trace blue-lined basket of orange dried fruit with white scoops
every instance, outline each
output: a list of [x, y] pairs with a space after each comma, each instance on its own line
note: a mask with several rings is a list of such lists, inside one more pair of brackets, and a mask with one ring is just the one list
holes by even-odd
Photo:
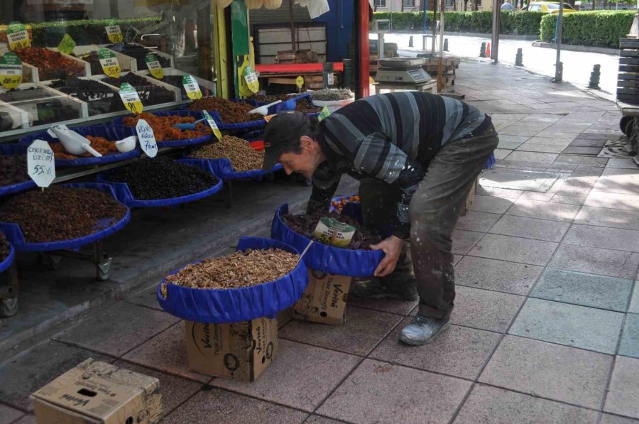
[[89, 152], [82, 153], [80, 156], [72, 155], [65, 150], [65, 147], [62, 146], [58, 138], [51, 136], [48, 131], [41, 131], [24, 136], [20, 138], [20, 143], [28, 146], [35, 140], [46, 141], [53, 150], [55, 166], [59, 167], [101, 165], [104, 163], [126, 161], [126, 159], [140, 156], [139, 148], [134, 148], [132, 151], [125, 153], [121, 153], [116, 148], [116, 141], [136, 135], [136, 131], [131, 128], [124, 126], [92, 125], [79, 126], [72, 128], [72, 130], [84, 138], [87, 138], [87, 140], [91, 142], [91, 147], [102, 154], [102, 157], [97, 158]]

